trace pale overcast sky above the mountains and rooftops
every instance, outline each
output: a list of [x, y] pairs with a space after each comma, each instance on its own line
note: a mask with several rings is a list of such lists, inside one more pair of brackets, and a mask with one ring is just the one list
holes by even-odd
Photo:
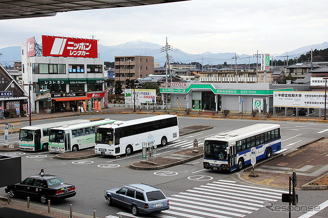
[[326, 0], [191, 0], [0, 20], [0, 48], [42, 35], [92, 38], [115, 46], [142, 40], [191, 54], [282, 54], [328, 38]]

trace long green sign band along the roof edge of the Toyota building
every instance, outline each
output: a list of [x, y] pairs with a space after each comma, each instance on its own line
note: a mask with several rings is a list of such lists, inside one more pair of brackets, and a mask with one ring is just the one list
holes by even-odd
[[209, 89], [214, 94], [231, 94], [231, 95], [273, 95], [273, 91], [293, 91], [293, 89], [277, 89], [277, 90], [233, 90], [233, 89], [215, 89], [211, 84], [191, 84], [187, 89], [178, 88], [160, 88], [160, 93], [189, 93], [191, 90]]

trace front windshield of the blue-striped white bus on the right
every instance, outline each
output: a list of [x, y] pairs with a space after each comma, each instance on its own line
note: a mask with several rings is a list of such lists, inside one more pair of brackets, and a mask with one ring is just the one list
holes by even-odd
[[208, 140], [204, 143], [204, 157], [216, 160], [227, 160], [228, 142]]

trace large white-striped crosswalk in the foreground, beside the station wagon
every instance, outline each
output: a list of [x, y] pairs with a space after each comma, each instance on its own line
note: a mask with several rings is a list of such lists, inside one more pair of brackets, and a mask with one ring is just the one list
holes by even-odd
[[[268, 202], [280, 200], [282, 193], [288, 191], [217, 180], [172, 194], [169, 210], [143, 217], [245, 217], [265, 207]], [[133, 217], [128, 212], [118, 212], [117, 215]]]

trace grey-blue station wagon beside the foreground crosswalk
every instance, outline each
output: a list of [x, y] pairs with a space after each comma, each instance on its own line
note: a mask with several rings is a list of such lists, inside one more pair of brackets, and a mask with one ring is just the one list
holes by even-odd
[[116, 204], [131, 209], [133, 215], [152, 213], [170, 208], [169, 199], [158, 188], [146, 184], [125, 185], [107, 190], [105, 198], [109, 206]]

